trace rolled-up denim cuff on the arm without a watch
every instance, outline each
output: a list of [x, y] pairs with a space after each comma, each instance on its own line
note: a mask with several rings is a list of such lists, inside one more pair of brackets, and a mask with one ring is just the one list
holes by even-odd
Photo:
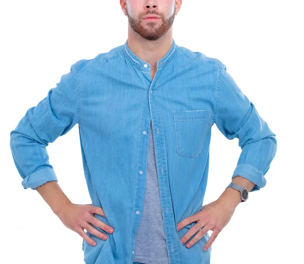
[[58, 181], [55, 171], [52, 168], [45, 168], [29, 174], [25, 179], [23, 179], [23, 188], [31, 188], [35, 190], [38, 187], [48, 181]]

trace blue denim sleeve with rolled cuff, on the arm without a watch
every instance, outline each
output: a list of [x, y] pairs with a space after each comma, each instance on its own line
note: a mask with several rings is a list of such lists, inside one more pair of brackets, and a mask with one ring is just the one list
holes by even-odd
[[48, 181], [58, 181], [46, 147], [79, 121], [76, 65], [71, 65], [56, 87], [26, 111], [10, 133], [12, 156], [25, 189], [36, 190], [37, 186]]

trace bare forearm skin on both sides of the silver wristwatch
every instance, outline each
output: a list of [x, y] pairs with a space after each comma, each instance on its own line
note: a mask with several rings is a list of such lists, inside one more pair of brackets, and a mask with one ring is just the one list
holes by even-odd
[[[250, 180], [242, 177], [242, 176], [236, 176], [232, 179], [232, 182], [237, 183], [241, 186], [244, 186], [248, 192], [252, 190], [254, 187], [254, 183]], [[232, 206], [237, 206], [240, 202], [242, 202], [240, 191], [235, 190], [234, 188], [225, 188], [224, 192], [219, 197], [219, 200], [225, 201], [229, 203]]]

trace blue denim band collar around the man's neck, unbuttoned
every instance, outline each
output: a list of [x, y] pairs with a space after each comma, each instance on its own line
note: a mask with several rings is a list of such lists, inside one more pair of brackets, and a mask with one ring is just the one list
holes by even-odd
[[[174, 57], [178, 49], [178, 46], [176, 45], [174, 39], [172, 39], [172, 46], [168, 53], [161, 58], [157, 62], [157, 68], [162, 68], [164, 67], [167, 63], [170, 62], [170, 60]], [[151, 65], [147, 63], [146, 61], [142, 60], [138, 56], [136, 56], [129, 48], [128, 46], [128, 40], [126, 40], [125, 44], [123, 45], [123, 53], [125, 55], [125, 58], [136, 68], [140, 70], [145, 70], [145, 71], [150, 71], [151, 70]]]

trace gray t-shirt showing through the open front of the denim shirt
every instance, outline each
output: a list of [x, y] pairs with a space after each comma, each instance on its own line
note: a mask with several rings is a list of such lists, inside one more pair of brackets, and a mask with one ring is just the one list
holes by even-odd
[[141, 217], [139, 230], [135, 238], [134, 262], [143, 264], [169, 264], [151, 122], [146, 191]]

